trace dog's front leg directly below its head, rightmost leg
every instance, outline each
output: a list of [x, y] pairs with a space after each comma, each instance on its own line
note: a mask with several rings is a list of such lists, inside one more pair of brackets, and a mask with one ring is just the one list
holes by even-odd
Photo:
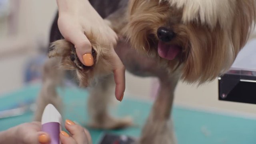
[[140, 144], [176, 144], [173, 126], [169, 118], [177, 82], [178, 78], [160, 79], [158, 97], [142, 130]]

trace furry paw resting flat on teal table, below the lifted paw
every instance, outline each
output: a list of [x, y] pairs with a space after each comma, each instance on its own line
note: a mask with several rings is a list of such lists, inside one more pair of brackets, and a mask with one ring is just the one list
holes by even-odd
[[96, 129], [112, 130], [112, 129], [126, 128], [132, 125], [133, 125], [133, 120], [130, 117], [117, 119], [117, 118], [112, 118], [110, 116], [106, 116], [104, 119], [102, 118], [102, 120], [100, 121], [91, 122], [88, 126]]

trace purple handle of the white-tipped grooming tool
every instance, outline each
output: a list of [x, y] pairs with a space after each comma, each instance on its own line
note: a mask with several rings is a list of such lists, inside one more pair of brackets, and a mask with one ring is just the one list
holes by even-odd
[[60, 123], [48, 122], [46, 124], [43, 124], [42, 131], [50, 135], [50, 144], [60, 144]]

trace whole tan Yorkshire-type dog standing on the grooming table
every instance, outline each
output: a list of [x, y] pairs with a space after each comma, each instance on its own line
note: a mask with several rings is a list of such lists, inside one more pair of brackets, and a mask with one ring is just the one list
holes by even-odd
[[[157, 77], [160, 89], [139, 144], [176, 143], [169, 122], [174, 91], [179, 80], [203, 84], [224, 74], [244, 47], [255, 26], [255, 0], [91, 0], [92, 6], [118, 34], [116, 53], [126, 69], [137, 76]], [[82, 65], [74, 45], [64, 40], [52, 25], [43, 84], [35, 119], [40, 120], [48, 103], [61, 110], [55, 90], [65, 70], [70, 70], [82, 87], [89, 86], [88, 102], [94, 128], [123, 128], [128, 118], [115, 119], [107, 111], [113, 94], [109, 48], [86, 36], [92, 43], [94, 66]], [[100, 103], [100, 104], [99, 104]]]

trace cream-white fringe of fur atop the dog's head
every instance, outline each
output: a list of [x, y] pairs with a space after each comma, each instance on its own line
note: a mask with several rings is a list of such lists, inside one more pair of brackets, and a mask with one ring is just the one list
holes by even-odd
[[[217, 23], [228, 28], [236, 11], [236, 0], [160, 0], [168, 1], [172, 7], [183, 10], [182, 22], [196, 21], [214, 28]], [[241, 0], [238, 0], [241, 1]]]

